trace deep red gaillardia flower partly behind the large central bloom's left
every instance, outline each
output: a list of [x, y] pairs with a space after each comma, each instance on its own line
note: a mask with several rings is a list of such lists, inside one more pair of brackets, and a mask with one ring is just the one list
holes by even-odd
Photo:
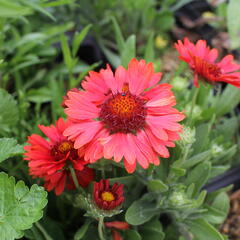
[[68, 167], [71, 165], [76, 172], [79, 184], [86, 187], [94, 177], [93, 169], [86, 167], [86, 161], [78, 156], [73, 148], [73, 142], [63, 136], [63, 131], [69, 126], [60, 118], [56, 126], [45, 127], [39, 125], [40, 130], [49, 138], [32, 134], [28, 137], [30, 145], [25, 146], [25, 160], [28, 161], [30, 175], [45, 180], [44, 187], [51, 191], [55, 188], [57, 195], [61, 194], [65, 187], [74, 189], [73, 179]]

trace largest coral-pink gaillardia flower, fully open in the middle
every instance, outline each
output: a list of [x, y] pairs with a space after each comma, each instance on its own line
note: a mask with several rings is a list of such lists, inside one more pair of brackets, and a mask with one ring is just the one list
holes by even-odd
[[[84, 159], [95, 162], [104, 157], [120, 162], [129, 173], [136, 163], [147, 168], [159, 164], [158, 156], [169, 157], [182, 126], [183, 113], [174, 109], [171, 85], [157, 84], [161, 73], [153, 64], [132, 59], [128, 69], [119, 66], [89, 72], [83, 91], [68, 92], [66, 114], [71, 125], [64, 131]], [[79, 153], [79, 154], [80, 154]]]

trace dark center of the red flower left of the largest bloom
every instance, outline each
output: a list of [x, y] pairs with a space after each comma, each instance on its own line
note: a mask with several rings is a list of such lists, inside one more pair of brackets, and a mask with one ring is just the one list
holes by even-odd
[[56, 161], [65, 158], [68, 153], [68, 158], [78, 158], [77, 150], [73, 148], [73, 143], [67, 140], [55, 144], [51, 149], [51, 154], [54, 156]]

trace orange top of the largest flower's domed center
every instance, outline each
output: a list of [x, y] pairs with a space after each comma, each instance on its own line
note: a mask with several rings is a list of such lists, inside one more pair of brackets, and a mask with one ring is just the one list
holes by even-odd
[[130, 95], [123, 93], [113, 98], [109, 105], [113, 113], [117, 115], [131, 114], [134, 109], [137, 107], [137, 104]]

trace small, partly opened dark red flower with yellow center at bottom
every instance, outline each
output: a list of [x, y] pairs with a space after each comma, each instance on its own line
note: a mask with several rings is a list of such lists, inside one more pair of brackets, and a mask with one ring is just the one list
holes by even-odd
[[100, 209], [113, 210], [120, 206], [123, 201], [123, 184], [115, 183], [109, 186], [109, 180], [102, 179], [99, 183], [94, 184], [93, 198]]

